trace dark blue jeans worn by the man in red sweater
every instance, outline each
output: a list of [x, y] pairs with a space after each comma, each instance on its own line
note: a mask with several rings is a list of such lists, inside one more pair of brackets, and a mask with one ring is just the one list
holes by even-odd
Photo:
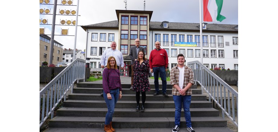
[[158, 84], [158, 73], [160, 74], [161, 81], [162, 81], [162, 93], [166, 93], [166, 71], [165, 67], [153, 67], [153, 72], [154, 72], [154, 87], [155, 87], [155, 92], [159, 93], [159, 84]]

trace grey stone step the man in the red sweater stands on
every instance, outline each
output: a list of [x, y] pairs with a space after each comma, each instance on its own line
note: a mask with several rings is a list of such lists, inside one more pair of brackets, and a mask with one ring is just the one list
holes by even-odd
[[[147, 92], [148, 93], [148, 92]], [[122, 98], [120, 100], [135, 100], [136, 101], [136, 95], [135, 94], [123, 94]], [[68, 95], [68, 99], [71, 100], [104, 100], [103, 96], [100, 96], [100, 94], [93, 94], [93, 93], [71, 93]], [[140, 95], [140, 99], [142, 99]], [[195, 100], [206, 100], [207, 97], [202, 94], [193, 94], [191, 97], [192, 101]], [[146, 100], [155, 100], [155, 101], [173, 101], [173, 95], [168, 94], [167, 97], [163, 96], [162, 94], [154, 96], [152, 94], [146, 94]]]

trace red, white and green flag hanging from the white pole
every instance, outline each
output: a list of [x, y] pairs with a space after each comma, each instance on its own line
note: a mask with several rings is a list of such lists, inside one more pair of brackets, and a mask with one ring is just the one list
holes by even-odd
[[222, 21], [226, 17], [220, 14], [223, 0], [203, 0], [204, 21]]

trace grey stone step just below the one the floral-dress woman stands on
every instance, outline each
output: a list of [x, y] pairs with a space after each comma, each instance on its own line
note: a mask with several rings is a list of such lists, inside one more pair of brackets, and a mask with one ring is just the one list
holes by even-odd
[[[104, 128], [104, 117], [56, 116], [48, 122], [49, 127]], [[227, 121], [221, 117], [192, 117], [194, 127], [226, 127]], [[186, 127], [181, 118], [181, 127]], [[171, 128], [175, 117], [113, 117], [114, 128]]]

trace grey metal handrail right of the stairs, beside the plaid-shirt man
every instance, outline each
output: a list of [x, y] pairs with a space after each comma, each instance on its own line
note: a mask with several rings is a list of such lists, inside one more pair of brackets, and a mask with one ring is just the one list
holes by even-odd
[[[208, 101], [211, 101], [211, 99], [214, 100], [214, 102], [222, 109], [222, 118], [225, 118], [225, 114], [226, 114], [238, 127], [238, 122], [235, 121], [235, 106], [237, 107], [237, 115], [238, 115], [238, 92], [234, 90], [231, 86], [229, 86], [225, 81], [223, 81], [216, 74], [214, 74], [211, 70], [209, 70], [200, 61], [191, 61], [191, 62], [187, 62], [187, 64], [193, 70], [195, 83], [198, 82], [201, 85], [202, 93], [203, 90], [205, 90], [208, 93]], [[219, 92], [219, 86], [220, 86], [220, 92]], [[223, 86], [224, 94], [222, 92], [222, 86]], [[228, 96], [227, 98], [226, 98], [226, 90]], [[236, 104], [234, 98], [236, 98]], [[230, 99], [232, 101], [232, 105], [230, 104]], [[226, 104], [226, 101], [228, 102], [228, 105]], [[232, 117], [231, 117], [231, 106], [232, 106]]]

